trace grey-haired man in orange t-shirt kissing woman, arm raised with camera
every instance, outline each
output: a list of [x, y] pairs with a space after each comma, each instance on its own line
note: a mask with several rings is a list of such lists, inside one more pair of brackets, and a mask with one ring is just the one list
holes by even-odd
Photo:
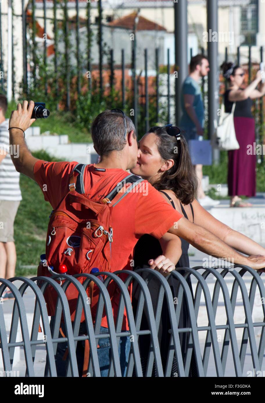
[[[69, 174], [77, 162], [46, 162], [32, 156], [25, 145], [23, 131], [34, 122], [34, 119], [31, 119], [33, 108], [33, 101], [30, 101], [29, 106], [28, 102], [24, 101], [23, 106], [18, 104], [17, 110], [11, 114], [9, 120], [10, 144], [19, 145], [19, 158], [12, 156], [12, 160], [16, 170], [36, 181], [42, 190], [42, 185], [46, 184], [45, 189], [47, 190], [43, 191], [44, 198], [50, 202], [53, 209], [56, 209], [59, 201], [69, 191]], [[102, 199], [107, 195], [115, 185], [128, 175], [126, 170], [136, 166], [139, 150], [132, 120], [121, 111], [106, 110], [99, 114], [93, 122], [91, 133], [94, 148], [100, 155], [101, 161], [99, 164], [86, 166], [84, 187], [86, 195], [95, 200]], [[256, 269], [265, 266], [264, 257], [251, 256], [252, 259], [250, 260], [250, 258], [243, 256], [214, 234], [185, 219], [147, 181], [142, 183], [146, 184], [147, 191], [129, 193], [117, 206], [114, 206], [112, 214], [114, 227], [112, 271], [131, 269], [130, 261], [133, 249], [139, 237], [145, 233], [160, 240], [164, 255], [158, 256], [156, 260], [150, 256], [149, 264], [151, 268], [160, 270], [162, 273], [169, 273], [175, 269], [175, 264], [181, 255], [179, 237], [209, 255], [233, 258], [235, 263], [251, 264]], [[114, 299], [112, 306], [114, 319], [117, 315], [117, 307], [118, 301]], [[105, 319], [103, 319], [102, 325], [101, 332], [107, 333]], [[126, 330], [127, 326], [126, 316], [124, 316], [122, 329]], [[121, 356], [124, 357], [123, 361], [121, 360], [121, 369], [124, 375], [130, 342], [128, 337], [121, 339], [123, 341], [127, 339], [125, 343], [120, 343], [119, 346]], [[62, 344], [66, 343], [59, 343], [60, 347]], [[107, 370], [104, 368], [108, 367], [109, 349], [109, 339], [100, 339], [98, 355], [101, 376], [107, 376]], [[58, 369], [62, 372], [65, 371], [65, 368], [60, 367], [62, 355], [63, 352], [61, 351], [57, 357], [57, 374]]]

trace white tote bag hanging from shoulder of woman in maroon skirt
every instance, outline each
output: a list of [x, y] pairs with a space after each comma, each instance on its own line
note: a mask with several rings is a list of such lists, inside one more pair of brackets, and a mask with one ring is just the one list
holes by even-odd
[[233, 103], [231, 113], [225, 112], [225, 106], [221, 106], [221, 116], [216, 131], [216, 144], [219, 150], [238, 150], [239, 144], [236, 139], [234, 127], [234, 110], [236, 103]]

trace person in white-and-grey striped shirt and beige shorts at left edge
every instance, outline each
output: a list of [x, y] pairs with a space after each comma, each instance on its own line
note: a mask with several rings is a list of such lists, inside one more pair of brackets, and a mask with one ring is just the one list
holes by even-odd
[[[0, 94], [0, 278], [15, 277], [17, 254], [14, 221], [22, 200], [19, 187], [20, 174], [11, 159], [11, 154], [15, 157], [19, 150], [9, 146], [6, 109], [6, 97]], [[13, 294], [6, 288], [2, 297], [13, 298]]]

